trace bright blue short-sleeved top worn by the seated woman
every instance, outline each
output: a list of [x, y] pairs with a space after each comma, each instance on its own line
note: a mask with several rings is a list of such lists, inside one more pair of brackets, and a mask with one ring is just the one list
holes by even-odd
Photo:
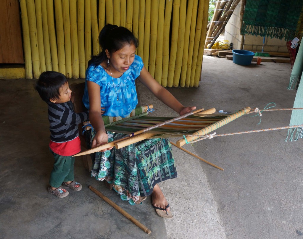
[[101, 107], [105, 107], [103, 115], [128, 116], [138, 104], [135, 79], [140, 75], [143, 66], [142, 58], [135, 55], [134, 62], [128, 70], [120, 78], [113, 79], [101, 65], [89, 66], [85, 73], [85, 89], [82, 99], [85, 107], [89, 109], [87, 81], [92, 81], [100, 86]]

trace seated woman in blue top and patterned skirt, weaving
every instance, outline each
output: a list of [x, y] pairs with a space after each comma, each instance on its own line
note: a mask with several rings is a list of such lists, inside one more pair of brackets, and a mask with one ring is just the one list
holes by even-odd
[[[92, 129], [86, 131], [92, 148], [125, 136], [105, 131], [102, 114], [126, 117], [138, 104], [138, 78], [165, 105], [184, 115], [184, 107], [149, 74], [135, 55], [138, 40], [124, 27], [105, 25], [99, 35], [102, 51], [88, 61], [83, 103], [89, 109]], [[158, 183], [177, 177], [171, 144], [167, 139], [146, 139], [121, 149], [108, 148], [93, 156], [92, 176], [113, 184], [122, 200], [139, 204], [151, 195], [161, 217], [171, 218], [169, 204]]]

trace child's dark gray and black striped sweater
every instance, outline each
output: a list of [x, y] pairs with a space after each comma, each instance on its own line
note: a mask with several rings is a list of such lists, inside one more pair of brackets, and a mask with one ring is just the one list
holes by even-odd
[[79, 135], [78, 124], [88, 119], [88, 111], [75, 113], [72, 101], [62, 104], [48, 104], [49, 130], [51, 140], [64, 143]]

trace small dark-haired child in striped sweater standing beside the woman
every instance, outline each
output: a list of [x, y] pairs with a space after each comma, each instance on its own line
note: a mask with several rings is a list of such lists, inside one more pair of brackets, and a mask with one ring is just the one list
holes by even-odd
[[72, 155], [81, 151], [78, 124], [88, 119], [88, 111], [75, 113], [71, 101], [72, 91], [66, 77], [59, 72], [43, 72], [35, 89], [48, 104], [51, 131], [49, 148], [55, 158], [48, 192], [64, 198], [68, 195], [64, 188], [73, 191], [80, 191], [82, 188], [81, 184], [74, 181], [75, 158]]

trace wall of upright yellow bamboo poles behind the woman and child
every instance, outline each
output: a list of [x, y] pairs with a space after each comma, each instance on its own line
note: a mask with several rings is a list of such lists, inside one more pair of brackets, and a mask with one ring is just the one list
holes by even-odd
[[107, 23], [131, 30], [137, 54], [164, 87], [198, 87], [209, 0], [20, 0], [25, 77], [85, 78]]

